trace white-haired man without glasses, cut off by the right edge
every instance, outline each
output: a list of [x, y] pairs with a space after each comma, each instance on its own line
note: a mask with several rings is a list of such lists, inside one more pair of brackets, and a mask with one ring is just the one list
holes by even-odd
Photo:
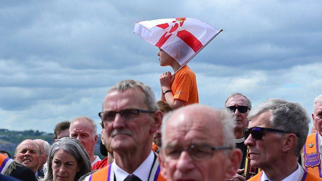
[[301, 158], [302, 167], [316, 176], [322, 177], [321, 174], [321, 140], [322, 140], [322, 94], [317, 96], [313, 104], [313, 128], [316, 133], [309, 135], [303, 147]]

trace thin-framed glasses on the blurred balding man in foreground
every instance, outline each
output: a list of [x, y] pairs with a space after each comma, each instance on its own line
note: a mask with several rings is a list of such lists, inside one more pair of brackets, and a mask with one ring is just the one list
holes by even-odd
[[187, 151], [196, 162], [206, 161], [213, 157], [215, 150], [232, 149], [231, 146], [211, 147], [190, 145], [188, 148], [166, 147], [160, 150], [161, 158], [166, 162], [176, 161], [183, 151]]

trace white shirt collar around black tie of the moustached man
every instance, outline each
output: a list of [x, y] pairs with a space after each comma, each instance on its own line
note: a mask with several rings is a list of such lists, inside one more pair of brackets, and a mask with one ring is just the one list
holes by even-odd
[[[147, 179], [149, 178], [149, 173], [150, 173], [150, 171], [147, 171], [147, 170], [151, 170], [151, 168], [153, 166], [153, 162], [154, 162], [154, 153], [153, 153], [153, 151], [151, 151], [149, 156], [147, 156], [147, 158], [143, 161], [143, 163], [139, 167], [137, 167], [137, 169], [134, 170], [134, 172], [132, 174], [139, 177], [142, 181], [147, 181]], [[122, 168], [118, 167], [118, 165], [115, 163], [115, 159], [112, 163], [112, 167], [114, 168], [116, 180], [122, 181], [127, 176], [130, 175], [128, 172], [126, 172]]]

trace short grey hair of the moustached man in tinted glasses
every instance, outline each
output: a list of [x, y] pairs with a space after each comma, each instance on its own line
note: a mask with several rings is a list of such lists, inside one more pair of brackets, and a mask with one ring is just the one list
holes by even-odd
[[[138, 87], [142, 90], [142, 92], [145, 94], [146, 98], [144, 100], [144, 103], [147, 105], [148, 110], [157, 111], [158, 107], [156, 105], [156, 99], [154, 97], [154, 93], [150, 86], [144, 84], [140, 81], [135, 80], [123, 80], [119, 81], [118, 83], [114, 84], [111, 89], [108, 91], [108, 93], [112, 91], [120, 91], [123, 92], [128, 89], [134, 89], [135, 87]], [[136, 95], [133, 95], [136, 96]]]

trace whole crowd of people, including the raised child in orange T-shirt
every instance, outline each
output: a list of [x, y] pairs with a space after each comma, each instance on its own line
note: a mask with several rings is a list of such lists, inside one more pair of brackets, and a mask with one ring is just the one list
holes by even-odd
[[[162, 66], [179, 70], [158, 53]], [[58, 123], [52, 145], [27, 139], [13, 159], [0, 154], [0, 180], [38, 181], [295, 181], [322, 180], [322, 94], [314, 100], [313, 125], [304, 108], [269, 99], [252, 108], [232, 93], [223, 109], [198, 104], [194, 73], [184, 67], [160, 75], [161, 97], [135, 80], [107, 92], [93, 119]], [[173, 85], [175, 83], [175, 85]], [[100, 160], [94, 146], [100, 142]]]

